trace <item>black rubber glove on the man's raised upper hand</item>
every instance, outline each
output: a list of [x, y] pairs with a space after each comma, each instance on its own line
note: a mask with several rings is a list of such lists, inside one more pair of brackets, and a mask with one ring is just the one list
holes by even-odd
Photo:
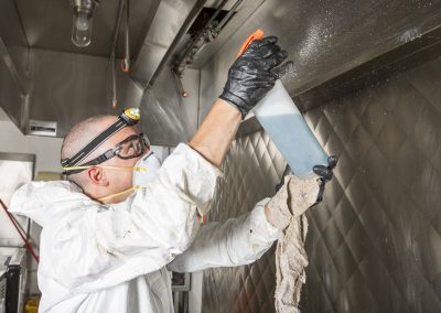
[[235, 106], [245, 118], [292, 64], [281, 65], [287, 56], [276, 36], [255, 40], [229, 68], [219, 98]]

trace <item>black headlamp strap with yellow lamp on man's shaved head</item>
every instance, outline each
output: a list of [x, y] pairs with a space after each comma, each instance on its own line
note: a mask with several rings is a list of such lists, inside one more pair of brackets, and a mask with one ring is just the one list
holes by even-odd
[[132, 108], [121, 112], [118, 120], [109, 126], [106, 130], [95, 137], [89, 143], [87, 143], [82, 150], [79, 150], [74, 156], [62, 160], [62, 166], [74, 166], [87, 158], [95, 149], [103, 144], [110, 136], [121, 130], [126, 126], [133, 126], [139, 121], [139, 109]]

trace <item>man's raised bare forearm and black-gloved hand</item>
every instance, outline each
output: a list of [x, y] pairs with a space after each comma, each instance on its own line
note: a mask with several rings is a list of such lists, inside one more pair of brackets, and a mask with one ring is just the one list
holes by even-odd
[[289, 64], [277, 37], [254, 41], [228, 71], [224, 91], [197, 129], [190, 147], [220, 166], [240, 121], [272, 88]]

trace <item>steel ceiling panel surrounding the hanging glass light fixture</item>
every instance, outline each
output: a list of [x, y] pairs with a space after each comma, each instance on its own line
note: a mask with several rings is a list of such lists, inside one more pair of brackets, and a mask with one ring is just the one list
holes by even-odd
[[[130, 1], [130, 51], [136, 51], [142, 44], [159, 2]], [[96, 56], [110, 55], [119, 0], [100, 1], [94, 13], [92, 43], [82, 48], [71, 41], [72, 8], [68, 0], [15, 0], [15, 3], [29, 46]], [[117, 45], [117, 56], [123, 57], [122, 41]]]

